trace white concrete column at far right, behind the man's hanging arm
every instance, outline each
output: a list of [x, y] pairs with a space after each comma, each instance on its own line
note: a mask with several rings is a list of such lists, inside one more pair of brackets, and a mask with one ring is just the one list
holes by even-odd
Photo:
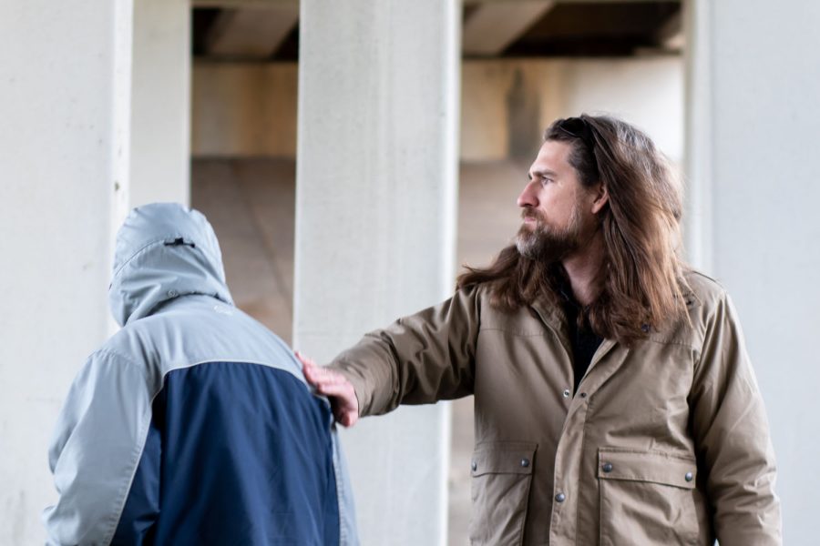
[[[784, 543], [816, 541], [820, 4], [690, 0], [696, 262], [733, 295], [777, 454]], [[697, 245], [696, 245], [697, 248]]]

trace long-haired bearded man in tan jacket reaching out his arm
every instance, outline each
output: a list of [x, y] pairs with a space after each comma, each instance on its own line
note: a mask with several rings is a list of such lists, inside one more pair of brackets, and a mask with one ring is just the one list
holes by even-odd
[[475, 395], [474, 544], [780, 544], [774, 453], [730, 298], [680, 256], [651, 139], [559, 119], [515, 244], [446, 302], [304, 373], [351, 426]]

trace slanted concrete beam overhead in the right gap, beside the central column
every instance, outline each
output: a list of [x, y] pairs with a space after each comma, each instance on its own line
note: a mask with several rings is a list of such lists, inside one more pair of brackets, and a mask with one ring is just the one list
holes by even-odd
[[555, 4], [554, 0], [526, 0], [480, 5], [464, 24], [462, 52], [472, 56], [500, 54]]

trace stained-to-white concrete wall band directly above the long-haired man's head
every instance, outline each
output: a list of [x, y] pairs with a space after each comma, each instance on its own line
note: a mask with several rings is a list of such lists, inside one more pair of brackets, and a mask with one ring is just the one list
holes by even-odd
[[683, 62], [633, 59], [469, 61], [463, 69], [461, 157], [534, 157], [557, 117], [609, 113], [683, 154]]

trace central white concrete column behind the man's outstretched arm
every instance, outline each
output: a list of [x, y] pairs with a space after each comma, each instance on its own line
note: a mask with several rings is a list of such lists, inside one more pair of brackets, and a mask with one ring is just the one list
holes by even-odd
[[[457, 0], [302, 0], [294, 345], [319, 361], [452, 293]], [[344, 445], [362, 543], [444, 544], [448, 408]]]

